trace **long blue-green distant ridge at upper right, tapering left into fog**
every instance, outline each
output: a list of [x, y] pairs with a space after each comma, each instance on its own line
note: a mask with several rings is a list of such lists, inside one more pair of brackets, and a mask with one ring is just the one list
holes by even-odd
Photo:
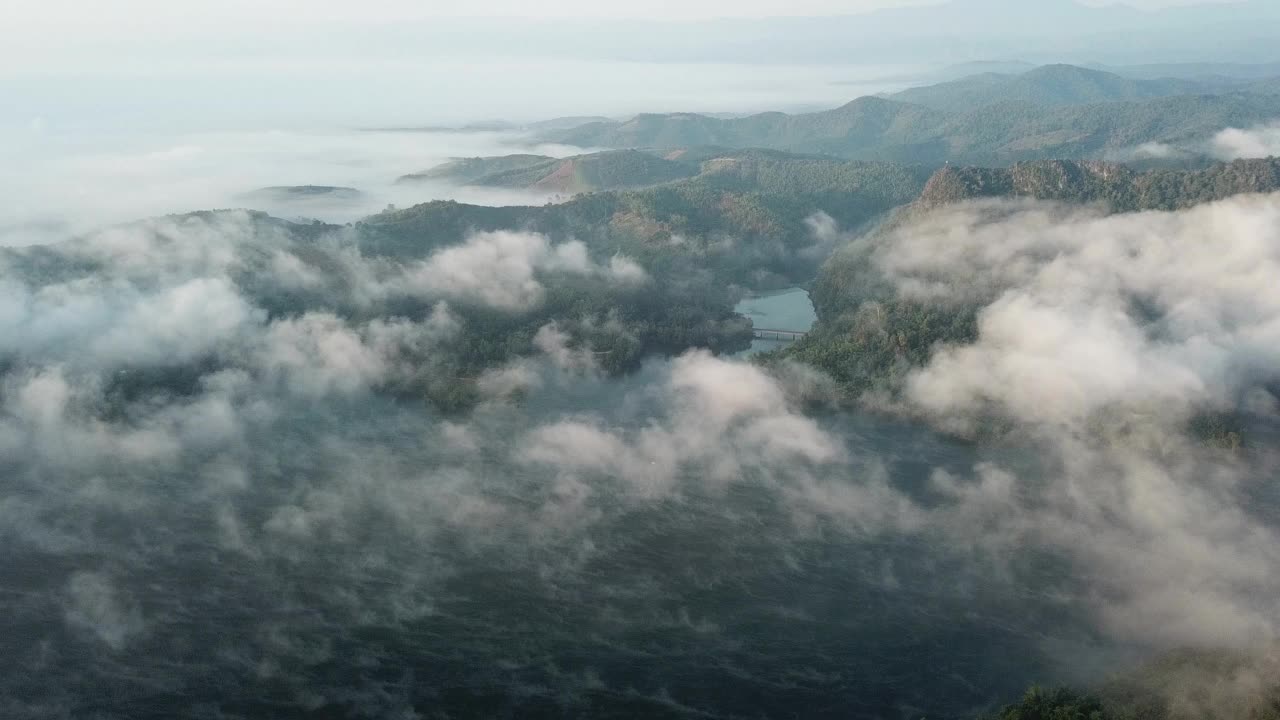
[[[937, 101], [963, 110], [860, 97], [833, 110], [796, 115], [763, 113], [721, 119], [689, 113], [645, 114], [556, 131], [544, 138], [582, 147], [721, 145], [914, 164], [1006, 165], [1048, 158], [1101, 159], [1148, 142], [1199, 143], [1222, 128], [1251, 127], [1280, 117], [1280, 94], [1272, 82], [1216, 95], [1147, 97], [1198, 86], [1184, 85], [1187, 81], [1128, 81], [1080, 68], [1046, 68], [1028, 74], [1029, 81], [972, 81], [988, 85], [982, 97]], [[929, 88], [915, 92], [925, 91]], [[937, 86], [932, 91], [942, 92]], [[1074, 104], [1083, 100], [1107, 101]]]

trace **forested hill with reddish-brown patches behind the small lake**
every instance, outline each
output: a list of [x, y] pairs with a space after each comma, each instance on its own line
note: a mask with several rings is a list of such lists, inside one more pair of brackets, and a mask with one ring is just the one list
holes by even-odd
[[678, 161], [699, 174], [557, 205], [426, 202], [374, 215], [356, 229], [366, 252], [398, 258], [460, 242], [471, 231], [527, 229], [581, 240], [604, 256], [626, 252], [654, 272], [699, 269], [722, 284], [767, 290], [817, 272], [826, 251], [805, 223], [815, 213], [856, 228], [915, 200], [929, 177], [920, 167], [768, 150], [695, 147]]

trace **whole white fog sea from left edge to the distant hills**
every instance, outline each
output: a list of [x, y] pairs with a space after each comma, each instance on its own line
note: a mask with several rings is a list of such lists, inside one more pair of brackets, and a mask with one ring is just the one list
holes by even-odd
[[[518, 132], [360, 128], [812, 110], [901, 87], [909, 70], [571, 60], [352, 61], [259, 74], [261, 69], [0, 73], [0, 94], [8, 99], [0, 109], [0, 161], [9, 169], [0, 173], [0, 245], [51, 242], [105, 224], [211, 208], [346, 223], [388, 204], [543, 204], [556, 197], [445, 182], [396, 184], [396, 178], [449, 158], [563, 156], [590, 149], [545, 146]], [[360, 196], [244, 197], [276, 186], [349, 187]]]

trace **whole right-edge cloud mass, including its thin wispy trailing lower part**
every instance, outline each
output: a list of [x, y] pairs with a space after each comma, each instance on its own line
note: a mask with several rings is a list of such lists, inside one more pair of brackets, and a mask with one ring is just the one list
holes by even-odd
[[936, 348], [909, 405], [965, 433], [1011, 418], [1041, 454], [937, 474], [951, 500], [932, 527], [996, 557], [1065, 553], [1089, 577], [1076, 601], [1125, 642], [1280, 634], [1280, 537], [1245, 500], [1266, 454], [1224, 460], [1185, 430], [1258, 407], [1280, 366], [1280, 195], [1111, 217], [974, 202], [883, 242], [900, 292], [980, 307], [975, 342]]

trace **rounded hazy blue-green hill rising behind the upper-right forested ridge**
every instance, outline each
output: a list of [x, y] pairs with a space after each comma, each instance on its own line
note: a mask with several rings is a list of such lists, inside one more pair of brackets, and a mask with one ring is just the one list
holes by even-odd
[[964, 113], [1000, 102], [1047, 108], [1171, 95], [1226, 92], [1235, 83], [1176, 78], [1134, 79], [1075, 65], [1044, 65], [1020, 74], [986, 73], [891, 95], [937, 110]]

